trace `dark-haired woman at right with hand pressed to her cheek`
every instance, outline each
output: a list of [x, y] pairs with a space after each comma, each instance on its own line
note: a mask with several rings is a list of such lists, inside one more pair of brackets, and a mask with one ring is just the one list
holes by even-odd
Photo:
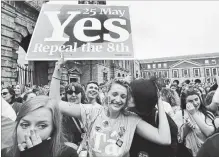
[[207, 137], [215, 131], [212, 123], [214, 115], [207, 111], [199, 93], [193, 88], [182, 92], [181, 109], [174, 117], [180, 142], [185, 141], [185, 146], [195, 157]]

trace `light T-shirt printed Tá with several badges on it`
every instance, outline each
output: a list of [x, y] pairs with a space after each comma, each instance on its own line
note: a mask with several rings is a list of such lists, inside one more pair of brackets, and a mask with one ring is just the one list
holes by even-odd
[[[92, 107], [81, 104], [82, 123], [92, 129], [89, 135], [94, 157], [128, 157], [135, 129], [141, 120], [136, 114], [120, 114], [117, 119], [110, 119], [104, 107]], [[117, 143], [117, 144], [116, 144]]]

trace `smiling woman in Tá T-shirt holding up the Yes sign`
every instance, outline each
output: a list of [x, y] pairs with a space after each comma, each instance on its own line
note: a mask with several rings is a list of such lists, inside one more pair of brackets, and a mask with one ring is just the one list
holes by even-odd
[[[51, 81], [50, 96], [59, 96], [61, 66], [63, 60], [56, 63]], [[79, 118], [85, 126], [84, 142], [79, 152], [89, 156], [129, 156], [129, 149], [134, 133], [158, 143], [169, 145], [171, 142], [170, 129], [161, 99], [158, 102], [159, 128], [155, 128], [141, 120], [136, 114], [126, 110], [130, 98], [129, 84], [123, 80], [113, 80], [108, 86], [104, 106], [99, 108], [92, 105], [74, 105], [59, 100], [62, 113]]]

